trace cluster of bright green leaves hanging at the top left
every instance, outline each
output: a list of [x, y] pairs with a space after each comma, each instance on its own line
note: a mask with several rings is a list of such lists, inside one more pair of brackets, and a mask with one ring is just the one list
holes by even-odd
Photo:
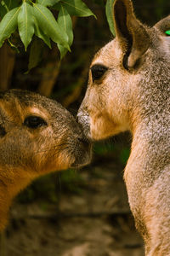
[[[58, 20], [49, 8], [59, 11]], [[25, 49], [35, 34], [49, 47], [50, 40], [54, 41], [61, 57], [70, 50], [73, 41], [71, 15], [94, 15], [82, 0], [3, 0], [0, 2], [0, 9], [0, 47], [18, 27]]]

